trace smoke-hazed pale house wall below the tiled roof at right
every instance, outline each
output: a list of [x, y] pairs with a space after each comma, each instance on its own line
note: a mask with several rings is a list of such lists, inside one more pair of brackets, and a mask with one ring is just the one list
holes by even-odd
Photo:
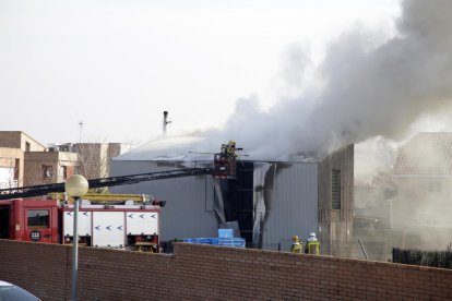
[[397, 186], [390, 201], [394, 246], [444, 250], [452, 232], [451, 176], [394, 174], [392, 179]]

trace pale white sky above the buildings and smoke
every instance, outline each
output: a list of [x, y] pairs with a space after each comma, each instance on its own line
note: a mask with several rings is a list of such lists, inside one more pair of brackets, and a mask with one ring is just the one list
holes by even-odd
[[350, 27], [393, 34], [399, 0], [0, 0], [0, 130], [144, 143], [278, 101], [287, 49], [313, 63]]

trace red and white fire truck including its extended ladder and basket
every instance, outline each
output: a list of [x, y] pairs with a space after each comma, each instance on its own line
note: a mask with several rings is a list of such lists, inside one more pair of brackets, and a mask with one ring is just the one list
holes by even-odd
[[[88, 180], [88, 186], [127, 185], [200, 174], [236, 179], [235, 156], [225, 154], [223, 148], [222, 153], [214, 154], [213, 169], [187, 168], [93, 179]], [[0, 190], [0, 239], [72, 244], [74, 206], [62, 194], [53, 194], [53, 200], [28, 198], [61, 192], [64, 192], [64, 183]], [[165, 201], [140, 195], [118, 198], [111, 194], [85, 195], [85, 198], [78, 218], [81, 245], [159, 252], [160, 208]]]

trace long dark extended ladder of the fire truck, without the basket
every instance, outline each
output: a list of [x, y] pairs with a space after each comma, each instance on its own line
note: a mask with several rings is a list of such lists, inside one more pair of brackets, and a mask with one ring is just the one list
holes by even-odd
[[[88, 184], [90, 184], [90, 189], [96, 189], [96, 188], [106, 188], [106, 186], [129, 185], [129, 184], [135, 184], [135, 183], [144, 182], [144, 181], [191, 177], [191, 176], [202, 176], [202, 174], [211, 174], [211, 173], [212, 173], [211, 168], [187, 168], [187, 169], [178, 169], [178, 170], [168, 170], [168, 171], [93, 179], [93, 180], [88, 180]], [[1, 189], [0, 200], [46, 195], [50, 192], [64, 192], [64, 183], [53, 183], [53, 184], [13, 188], [13, 189]]]

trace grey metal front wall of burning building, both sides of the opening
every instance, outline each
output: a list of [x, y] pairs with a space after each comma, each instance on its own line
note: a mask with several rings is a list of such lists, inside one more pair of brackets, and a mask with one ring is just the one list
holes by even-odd
[[[251, 194], [254, 214], [250, 217], [253, 218], [250, 222], [254, 224], [253, 245], [267, 250], [288, 250], [292, 236], [304, 238], [318, 228], [317, 164], [277, 162], [265, 171], [261, 171], [259, 165], [254, 166], [254, 192]], [[114, 160], [112, 176], [179, 168], [175, 161]], [[258, 178], [263, 179], [262, 183]], [[110, 191], [145, 193], [167, 201], [163, 209], [164, 240], [217, 236], [217, 198], [211, 176], [142, 182], [111, 188]]]

